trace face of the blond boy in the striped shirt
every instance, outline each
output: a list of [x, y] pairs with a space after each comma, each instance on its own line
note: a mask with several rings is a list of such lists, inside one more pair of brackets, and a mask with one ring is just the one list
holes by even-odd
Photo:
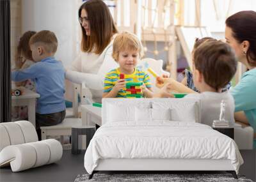
[[138, 50], [124, 50], [119, 52], [117, 62], [123, 72], [132, 73], [138, 64], [138, 59]]

